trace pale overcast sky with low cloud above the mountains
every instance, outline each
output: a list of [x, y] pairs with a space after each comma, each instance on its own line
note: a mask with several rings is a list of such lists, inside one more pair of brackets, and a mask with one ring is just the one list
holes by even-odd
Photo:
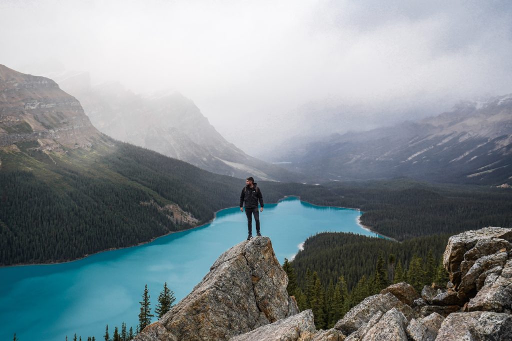
[[323, 111], [344, 131], [512, 93], [511, 4], [0, 0], [0, 63], [178, 90], [250, 152]]

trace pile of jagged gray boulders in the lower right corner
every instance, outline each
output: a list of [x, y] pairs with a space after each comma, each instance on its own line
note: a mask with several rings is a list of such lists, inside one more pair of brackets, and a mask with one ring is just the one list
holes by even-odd
[[502, 228], [451, 237], [443, 259], [451, 279], [446, 289], [425, 286], [420, 298], [407, 283], [391, 285], [335, 328], [347, 341], [512, 339], [511, 239], [512, 229]]

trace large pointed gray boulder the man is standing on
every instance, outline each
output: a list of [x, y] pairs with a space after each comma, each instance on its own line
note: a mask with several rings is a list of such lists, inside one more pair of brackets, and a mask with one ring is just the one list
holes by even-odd
[[268, 237], [233, 246], [180, 303], [135, 339], [228, 340], [283, 319], [298, 308]]

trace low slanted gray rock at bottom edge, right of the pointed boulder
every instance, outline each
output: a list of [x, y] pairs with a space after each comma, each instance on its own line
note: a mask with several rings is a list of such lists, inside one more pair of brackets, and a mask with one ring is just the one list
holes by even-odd
[[230, 341], [310, 341], [316, 333], [313, 312], [305, 310], [287, 319], [281, 319], [248, 333], [234, 336], [230, 338]]

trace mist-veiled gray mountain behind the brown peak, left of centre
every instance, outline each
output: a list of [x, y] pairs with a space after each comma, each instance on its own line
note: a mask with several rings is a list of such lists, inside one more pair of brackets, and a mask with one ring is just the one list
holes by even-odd
[[114, 139], [217, 174], [278, 181], [304, 178], [227, 142], [194, 102], [179, 93], [141, 96], [116, 82], [91, 86], [88, 73], [54, 77], [62, 89], [80, 101], [93, 125]]

